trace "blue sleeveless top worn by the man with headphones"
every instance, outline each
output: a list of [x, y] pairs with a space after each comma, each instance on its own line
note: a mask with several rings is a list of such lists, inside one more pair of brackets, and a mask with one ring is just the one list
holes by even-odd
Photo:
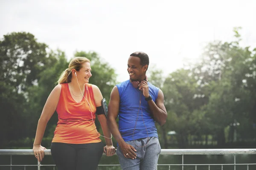
[[[149, 109], [148, 102], [145, 101], [143, 93], [134, 88], [130, 82], [127, 80], [116, 85], [119, 97], [119, 131], [125, 142], [132, 141], [136, 139], [142, 139], [147, 137], [157, 137], [157, 128], [155, 126], [155, 121], [152, 117], [152, 113]], [[148, 82], [149, 94], [152, 96], [153, 101], [157, 99], [159, 88]], [[141, 108], [140, 107], [140, 97], [141, 97]], [[139, 112], [139, 114], [138, 114]], [[143, 114], [142, 114], [143, 113]], [[136, 123], [137, 119], [137, 123]], [[144, 120], [144, 122], [143, 122]], [[145, 123], [145, 124], [144, 124]], [[136, 128], [134, 130], [136, 124]], [[147, 130], [148, 134], [147, 134]], [[134, 132], [134, 135], [133, 135]]]

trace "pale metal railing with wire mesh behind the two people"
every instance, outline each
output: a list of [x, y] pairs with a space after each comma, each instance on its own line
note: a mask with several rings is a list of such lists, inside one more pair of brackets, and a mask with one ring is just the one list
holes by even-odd
[[[181, 166], [182, 170], [184, 170], [185, 166], [193, 166], [195, 167], [195, 170], [197, 170], [199, 166], [208, 166], [208, 170], [211, 170], [211, 166], [218, 165], [221, 167], [221, 170], [223, 170], [224, 165], [232, 165], [234, 167], [234, 170], [236, 170], [236, 167], [238, 165], [245, 165], [246, 169], [249, 170], [249, 165], [256, 165], [256, 163], [237, 163], [236, 155], [251, 155], [251, 154], [256, 154], [256, 149], [162, 149], [160, 155], [181, 155], [182, 161], [181, 161], [181, 164], [158, 164], [158, 167], [167, 166], [168, 169], [171, 170], [170, 169], [171, 166]], [[24, 170], [26, 170], [26, 167], [30, 167], [30, 166], [37, 167], [38, 170], [41, 170], [42, 166], [53, 166], [53, 170], [57, 169], [55, 168], [54, 164], [45, 165], [45, 164], [41, 164], [39, 161], [38, 161], [38, 164], [34, 164], [34, 165], [12, 164], [12, 156], [17, 156], [17, 155], [28, 156], [28, 155], [34, 155], [34, 153], [32, 149], [0, 150], [0, 156], [10, 156], [10, 164], [0, 165], [0, 169], [2, 169], [1, 167], [10, 167], [10, 170], [12, 170], [12, 167], [15, 167], [15, 166], [24, 167]], [[49, 149], [45, 150], [45, 155], [51, 155], [51, 151]], [[230, 164], [185, 164], [184, 155], [233, 155], [234, 159], [233, 159], [233, 163], [230, 163]], [[119, 166], [119, 164], [104, 164], [104, 165], [100, 164], [99, 165], [99, 167], [102, 167], [102, 166], [113, 167], [113, 166]], [[250, 169], [250, 170], [253, 170], [253, 169]]]

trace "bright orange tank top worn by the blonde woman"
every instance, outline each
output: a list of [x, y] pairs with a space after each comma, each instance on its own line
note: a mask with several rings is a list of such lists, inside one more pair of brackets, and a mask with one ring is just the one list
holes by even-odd
[[84, 97], [87, 97], [90, 107], [84, 98], [81, 102], [76, 102], [70, 94], [68, 84], [61, 84], [61, 95], [56, 109], [58, 123], [52, 142], [69, 144], [101, 142], [94, 126], [95, 123], [93, 123], [96, 118], [96, 104], [91, 84], [87, 84], [87, 88], [85, 84]]

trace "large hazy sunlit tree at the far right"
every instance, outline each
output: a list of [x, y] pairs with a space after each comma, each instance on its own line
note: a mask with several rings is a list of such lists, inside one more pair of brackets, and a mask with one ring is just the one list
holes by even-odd
[[[246, 122], [244, 119], [253, 116], [255, 95], [249, 94], [255, 91], [250, 88], [255, 87], [255, 49], [250, 51], [250, 47], [240, 46], [239, 29], [233, 30], [237, 38], [233, 42], [210, 42], [201, 61], [191, 69], [207, 99], [204, 111], [205, 118], [211, 122], [208, 130], [217, 136], [220, 145], [225, 143], [225, 127], [234, 120]], [[247, 123], [252, 124], [251, 121]]]

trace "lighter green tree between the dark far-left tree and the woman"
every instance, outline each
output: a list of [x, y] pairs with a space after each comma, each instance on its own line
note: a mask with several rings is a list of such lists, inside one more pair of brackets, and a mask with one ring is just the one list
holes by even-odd
[[[56, 51], [50, 51], [48, 56], [51, 58], [51, 65], [40, 73], [41, 79], [38, 80], [38, 85], [34, 85], [29, 88], [30, 105], [28, 115], [30, 120], [32, 120], [29, 123], [29, 127], [31, 129], [29, 132], [31, 137], [35, 137], [38, 119], [41, 116], [41, 112], [49, 94], [55, 85], [57, 85], [56, 82], [58, 77], [66, 68], [68, 68], [69, 65], [65, 53], [59, 49]], [[48, 136], [49, 140], [51, 140], [53, 137], [53, 130], [55, 129], [57, 122], [58, 116], [57, 113], [54, 113], [47, 124], [47, 129], [44, 135]], [[45, 140], [45, 142], [47, 142], [45, 146], [49, 144], [49, 140]]]

